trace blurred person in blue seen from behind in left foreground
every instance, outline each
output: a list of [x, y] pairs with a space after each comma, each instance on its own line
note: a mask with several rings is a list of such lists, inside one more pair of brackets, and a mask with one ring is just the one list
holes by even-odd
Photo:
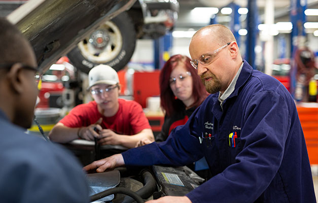
[[39, 93], [31, 45], [0, 18], [0, 201], [88, 202], [85, 175], [59, 146], [26, 134]]

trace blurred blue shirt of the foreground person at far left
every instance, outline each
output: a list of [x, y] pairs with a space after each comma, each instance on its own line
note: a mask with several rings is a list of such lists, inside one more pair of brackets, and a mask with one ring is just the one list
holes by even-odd
[[0, 202], [89, 202], [85, 174], [59, 146], [24, 133], [0, 110]]

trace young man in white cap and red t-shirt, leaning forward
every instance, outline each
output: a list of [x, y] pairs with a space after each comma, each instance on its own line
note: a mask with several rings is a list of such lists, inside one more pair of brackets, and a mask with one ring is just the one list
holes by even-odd
[[112, 67], [97, 65], [88, 78], [94, 101], [76, 106], [61, 119], [49, 133], [53, 142], [98, 138], [100, 145], [133, 148], [140, 139], [154, 140], [142, 107], [135, 101], [118, 98], [120, 84]]

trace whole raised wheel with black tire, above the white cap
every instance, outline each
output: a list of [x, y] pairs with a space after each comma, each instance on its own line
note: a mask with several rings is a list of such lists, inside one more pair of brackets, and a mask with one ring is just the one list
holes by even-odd
[[123, 12], [90, 33], [67, 57], [84, 73], [101, 63], [119, 71], [129, 62], [135, 44], [134, 24], [130, 16]]

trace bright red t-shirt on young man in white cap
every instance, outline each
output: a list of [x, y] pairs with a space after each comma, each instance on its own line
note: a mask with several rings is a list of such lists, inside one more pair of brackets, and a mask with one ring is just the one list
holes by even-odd
[[101, 127], [111, 129], [118, 134], [132, 135], [143, 129], [151, 128], [149, 121], [140, 106], [135, 101], [118, 99], [118, 112], [112, 117], [105, 117], [97, 110], [95, 101], [81, 104], [73, 108], [68, 115], [59, 122], [67, 127], [89, 126], [102, 117]]

